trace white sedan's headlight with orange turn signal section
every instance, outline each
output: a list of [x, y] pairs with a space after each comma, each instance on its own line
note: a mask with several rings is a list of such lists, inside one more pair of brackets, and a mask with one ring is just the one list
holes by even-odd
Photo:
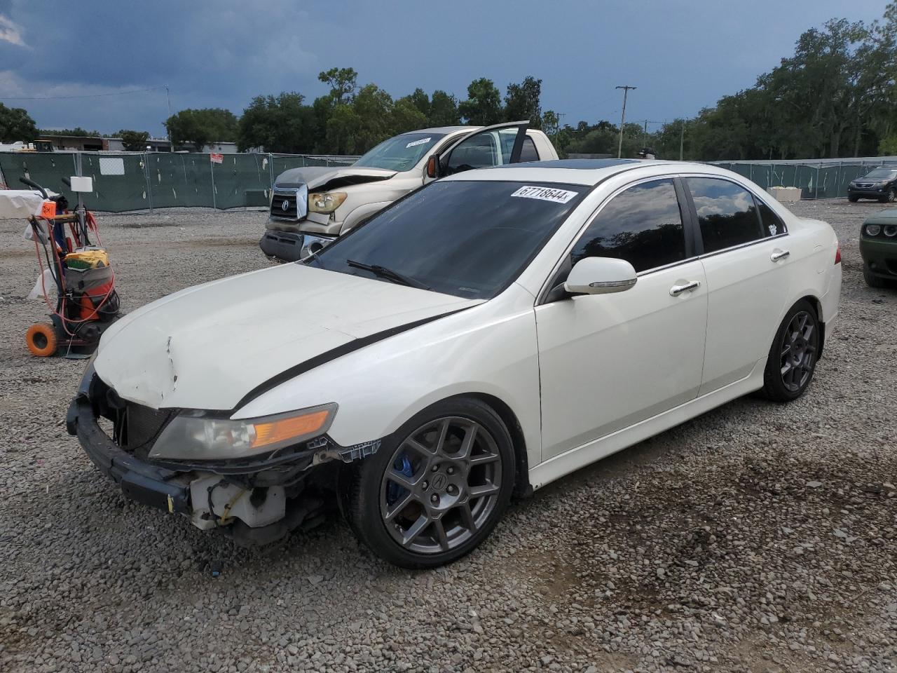
[[204, 411], [188, 411], [165, 426], [152, 445], [150, 458], [250, 458], [327, 433], [335, 415], [334, 403], [239, 421]]

